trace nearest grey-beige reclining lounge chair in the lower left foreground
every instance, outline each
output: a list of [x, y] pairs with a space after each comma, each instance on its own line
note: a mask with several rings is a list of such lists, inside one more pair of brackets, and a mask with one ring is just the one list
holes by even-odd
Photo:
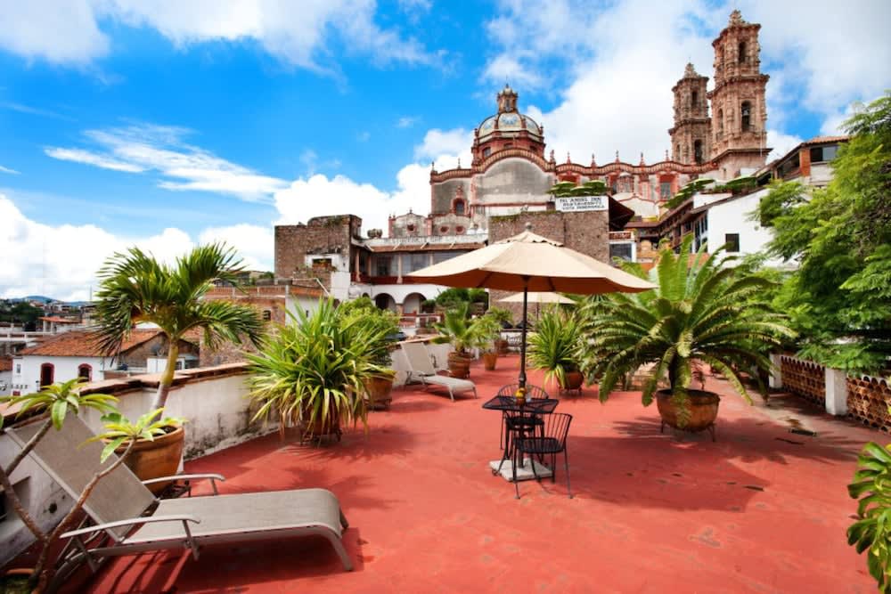
[[[37, 432], [38, 423], [7, 429], [22, 445]], [[78, 417], [69, 415], [61, 431], [50, 429], [31, 452], [33, 460], [63, 490], [77, 499], [97, 469], [101, 443], [85, 443], [93, 436]], [[95, 572], [105, 557], [132, 555], [149, 550], [188, 549], [192, 557], [209, 544], [260, 541], [318, 534], [331, 542], [347, 571], [353, 564], [343, 547], [341, 534], [347, 519], [334, 493], [325, 489], [250, 492], [218, 495], [220, 475], [179, 475], [171, 478], [209, 479], [214, 495], [157, 500], [151, 491], [124, 465], [96, 484], [84, 509], [94, 521], [61, 535], [71, 539], [57, 566], [53, 583], [86, 560]]]

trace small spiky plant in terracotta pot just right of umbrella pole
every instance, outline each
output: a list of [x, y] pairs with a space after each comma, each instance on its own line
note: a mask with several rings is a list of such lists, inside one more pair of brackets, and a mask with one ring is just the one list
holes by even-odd
[[580, 339], [576, 313], [548, 307], [529, 336], [529, 365], [544, 370], [544, 380], [556, 379], [561, 390], [579, 390], [584, 376], [578, 370]]

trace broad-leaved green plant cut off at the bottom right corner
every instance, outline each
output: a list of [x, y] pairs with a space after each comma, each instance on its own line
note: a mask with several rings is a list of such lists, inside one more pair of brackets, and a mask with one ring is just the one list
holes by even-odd
[[891, 592], [891, 445], [867, 443], [857, 466], [847, 492], [860, 503], [857, 521], [847, 529], [847, 543], [858, 553], [866, 551], [866, 565], [879, 591]]

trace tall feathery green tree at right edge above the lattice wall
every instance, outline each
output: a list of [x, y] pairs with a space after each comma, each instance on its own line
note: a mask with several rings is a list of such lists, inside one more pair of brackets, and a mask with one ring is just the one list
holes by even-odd
[[891, 355], [891, 94], [846, 130], [825, 189], [775, 182], [756, 218], [773, 230], [772, 256], [798, 264], [774, 304], [798, 330], [800, 354], [875, 371]]

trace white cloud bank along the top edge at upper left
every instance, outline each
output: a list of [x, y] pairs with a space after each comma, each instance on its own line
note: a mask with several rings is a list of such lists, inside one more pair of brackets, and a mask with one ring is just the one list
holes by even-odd
[[[418, 3], [414, 3], [418, 4]], [[422, 3], [421, 3], [422, 4]], [[178, 46], [256, 41], [299, 68], [336, 70], [331, 46], [387, 63], [433, 63], [436, 54], [412, 37], [375, 22], [370, 0], [69, 0], [4, 3], [0, 47], [63, 64], [87, 64], [110, 52], [110, 21], [156, 29]]]

